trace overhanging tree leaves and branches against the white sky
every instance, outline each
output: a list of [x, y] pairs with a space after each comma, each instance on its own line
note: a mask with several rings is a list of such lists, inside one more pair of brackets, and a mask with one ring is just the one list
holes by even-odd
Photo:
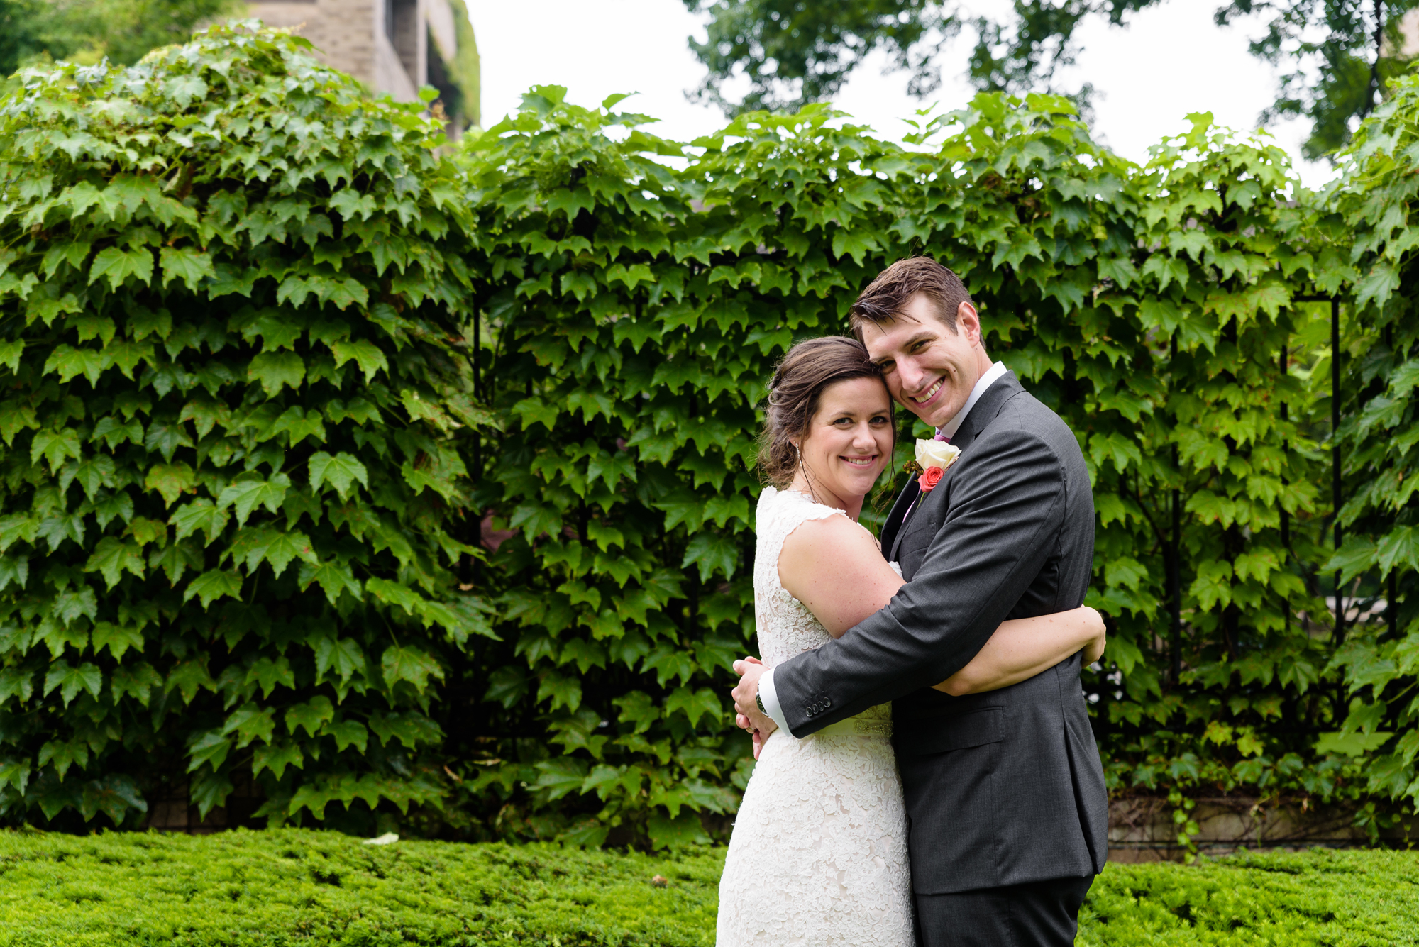
[[[795, 109], [832, 99], [857, 65], [877, 48], [910, 72], [907, 89], [928, 95], [941, 85], [941, 51], [962, 27], [975, 31], [965, 75], [981, 91], [1012, 95], [1067, 95], [1088, 113], [1094, 86], [1066, 89], [1060, 68], [1074, 65], [1083, 47], [1074, 38], [1090, 17], [1127, 26], [1132, 13], [1159, 0], [1013, 0], [1010, 16], [969, 16], [959, 7], [922, 0], [851, 0], [805, 4], [789, 0], [685, 0], [708, 14], [705, 43], [690, 41], [708, 69], [695, 95], [736, 115], [752, 109]], [[1396, 55], [1405, 38], [1401, 20], [1415, 0], [1232, 0], [1216, 9], [1219, 26], [1269, 17], [1250, 51], [1271, 65], [1288, 65], [1276, 102], [1261, 122], [1304, 116], [1311, 135], [1303, 150], [1315, 159], [1349, 140], [1351, 123], [1388, 95], [1388, 82], [1408, 60]], [[1376, 10], [1382, 27], [1376, 30]], [[1240, 26], [1239, 23], [1239, 26]], [[724, 96], [725, 82], [749, 79], [739, 102]]]

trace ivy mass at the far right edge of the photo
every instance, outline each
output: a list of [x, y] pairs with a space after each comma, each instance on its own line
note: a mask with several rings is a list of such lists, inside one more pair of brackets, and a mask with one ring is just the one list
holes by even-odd
[[1393, 98], [1361, 126], [1347, 152], [1348, 187], [1338, 225], [1352, 231], [1359, 279], [1345, 354], [1347, 540], [1328, 568], [1381, 621], [1357, 629], [1335, 665], [1345, 669], [1345, 732], [1376, 754], [1371, 791], [1419, 801], [1419, 257], [1412, 214], [1419, 201], [1419, 77], [1393, 84]]

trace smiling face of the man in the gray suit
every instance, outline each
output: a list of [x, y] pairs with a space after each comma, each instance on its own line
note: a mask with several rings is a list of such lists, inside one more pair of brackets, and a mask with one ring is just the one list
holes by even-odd
[[891, 397], [937, 428], [961, 413], [990, 367], [975, 308], [961, 303], [952, 332], [922, 293], [908, 299], [897, 319], [864, 325], [863, 343], [883, 367]]

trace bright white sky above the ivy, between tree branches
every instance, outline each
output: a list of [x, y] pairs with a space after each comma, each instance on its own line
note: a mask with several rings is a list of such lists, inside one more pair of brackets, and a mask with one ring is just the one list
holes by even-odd
[[[1212, 21], [1220, 1], [1165, 0], [1125, 28], [1087, 23], [1080, 33], [1084, 52], [1069, 85], [1094, 84], [1097, 138], [1142, 162], [1149, 145], [1186, 130], [1189, 112], [1210, 111], [1220, 123], [1254, 128], [1257, 113], [1276, 96], [1276, 72], [1247, 52], [1259, 21], [1225, 30]], [[972, 0], [971, 6], [995, 13], [1007, 4]], [[620, 108], [657, 116], [661, 122], [651, 130], [677, 140], [688, 142], [725, 122], [718, 109], [685, 98], [704, 77], [685, 38], [704, 38], [704, 26], [683, 0], [470, 0], [468, 7], [482, 55], [484, 126], [514, 111], [522, 92], [539, 84], [568, 86], [568, 98], [580, 105], [597, 105], [613, 92], [639, 92]], [[931, 101], [944, 109], [969, 101], [971, 86], [961, 74], [972, 41], [966, 30], [948, 47], [945, 84], [927, 102], [907, 95], [905, 74], [883, 75], [883, 58], [860, 67], [836, 105], [880, 135], [900, 139], [910, 130], [900, 119], [915, 109]], [[1300, 157], [1304, 122], [1271, 132], [1291, 152], [1307, 186], [1331, 177], [1327, 163]]]

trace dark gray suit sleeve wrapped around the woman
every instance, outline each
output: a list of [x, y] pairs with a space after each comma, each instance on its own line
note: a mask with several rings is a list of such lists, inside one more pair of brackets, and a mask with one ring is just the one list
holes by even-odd
[[1060, 458], [1017, 428], [983, 431], [973, 447], [952, 472], [951, 509], [911, 581], [837, 641], [775, 668], [793, 736], [945, 680], [1039, 574], [1064, 522]]

